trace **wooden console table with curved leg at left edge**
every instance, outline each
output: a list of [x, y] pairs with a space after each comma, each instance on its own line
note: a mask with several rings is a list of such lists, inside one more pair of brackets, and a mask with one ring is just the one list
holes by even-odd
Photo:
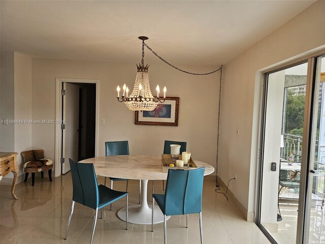
[[15, 195], [15, 186], [18, 177], [18, 165], [16, 161], [17, 153], [4, 153], [0, 152], [0, 175], [5, 176], [9, 174], [9, 172], [13, 172], [14, 179], [12, 181], [11, 186], [11, 195], [13, 198], [18, 199]]

